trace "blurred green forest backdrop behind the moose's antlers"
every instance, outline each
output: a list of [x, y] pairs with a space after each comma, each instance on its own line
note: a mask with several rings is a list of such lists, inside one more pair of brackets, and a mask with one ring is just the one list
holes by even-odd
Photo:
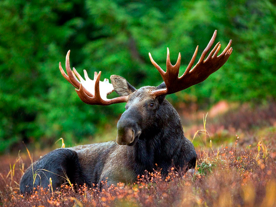
[[[181, 52], [182, 74], [196, 46], [214, 30], [233, 40], [227, 63], [206, 81], [170, 95], [171, 102], [208, 108], [221, 99], [262, 103], [276, 98], [276, 3], [263, 0], [0, 1], [0, 152], [18, 143], [67, 143], [93, 138], [117, 119], [124, 104], [89, 106], [60, 74], [70, 63], [90, 76], [102, 71], [133, 86], [162, 82], [148, 53], [162, 67]], [[223, 49], [221, 50], [223, 51]], [[83, 74], [83, 72], [81, 72]], [[112, 137], [110, 139], [113, 139]]]

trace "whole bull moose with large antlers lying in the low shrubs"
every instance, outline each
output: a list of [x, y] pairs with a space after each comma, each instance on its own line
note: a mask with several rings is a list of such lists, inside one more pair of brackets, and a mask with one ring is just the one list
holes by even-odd
[[[218, 42], [210, 51], [217, 31], [204, 49], [198, 63], [192, 68], [198, 46], [184, 74], [179, 77], [181, 55], [177, 63], [170, 63], [167, 48], [166, 72], [152, 59], [150, 61], [162, 76], [163, 83], [157, 87], [144, 86], [135, 89], [125, 78], [112, 75], [100, 81], [101, 71], [95, 72], [91, 80], [84, 70], [85, 80], [69, 63], [70, 50], [66, 55], [66, 73], [59, 64], [62, 76], [76, 89], [79, 98], [90, 105], [110, 105], [126, 102], [125, 111], [117, 123], [116, 141], [60, 148], [49, 152], [34, 162], [20, 181], [20, 192], [32, 193], [34, 187], [48, 187], [51, 178], [53, 189], [64, 182], [101, 188], [101, 181], [107, 185], [133, 183], [145, 170], [152, 172], [156, 165], [162, 175], [167, 175], [171, 166], [185, 172], [196, 165], [196, 151], [183, 132], [181, 119], [173, 106], [165, 99], [167, 94], [176, 93], [204, 81], [221, 68], [233, 49], [231, 40], [218, 55]], [[218, 56], [217, 56], [218, 55]], [[204, 60], [205, 59], [205, 60]], [[119, 97], [108, 99], [115, 91]]]

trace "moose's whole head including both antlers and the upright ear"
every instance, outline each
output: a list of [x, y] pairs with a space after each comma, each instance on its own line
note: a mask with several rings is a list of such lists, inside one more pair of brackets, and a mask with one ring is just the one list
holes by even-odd
[[[198, 52], [198, 46], [196, 47], [187, 69], [180, 77], [180, 53], [177, 63], [173, 66], [170, 62], [170, 52], [167, 48], [166, 72], [156, 64], [152, 59], [152, 55], [149, 53], [152, 64], [164, 80], [158, 87], [145, 86], [137, 90], [126, 79], [117, 75], [110, 77], [111, 83], [109, 83], [108, 79], [100, 81], [101, 71], [99, 74], [95, 72], [94, 79], [91, 80], [86, 70], [84, 70], [84, 80], [75, 68], [73, 68], [73, 71], [70, 68], [70, 50], [66, 55], [66, 71], [68, 76], [62, 69], [61, 63], [59, 64], [59, 68], [64, 78], [76, 88], [75, 90], [78, 96], [86, 104], [110, 105], [122, 102], [127, 103], [125, 107], [126, 111], [122, 114], [117, 124], [118, 133], [116, 142], [119, 145], [134, 145], [141, 133], [145, 133], [147, 129], [152, 129], [152, 124], [156, 123], [156, 116], [158, 116], [156, 112], [162, 107], [162, 101], [165, 95], [176, 93], [204, 81], [228, 60], [233, 51], [232, 47], [230, 47], [231, 40], [220, 55], [218, 55], [218, 52], [221, 49], [221, 44], [218, 42], [205, 59], [214, 44], [216, 33], [217, 31], [215, 30], [212, 39], [204, 49], [198, 63], [192, 68]], [[120, 97], [108, 99], [107, 95], [113, 91], [120, 95]]]

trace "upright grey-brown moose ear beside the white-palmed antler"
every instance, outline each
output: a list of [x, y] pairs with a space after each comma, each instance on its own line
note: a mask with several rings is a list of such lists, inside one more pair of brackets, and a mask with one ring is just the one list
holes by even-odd
[[119, 96], [127, 96], [132, 92], [136, 91], [136, 89], [121, 76], [112, 75], [110, 76], [110, 81], [113, 85], [115, 92], [118, 93]]

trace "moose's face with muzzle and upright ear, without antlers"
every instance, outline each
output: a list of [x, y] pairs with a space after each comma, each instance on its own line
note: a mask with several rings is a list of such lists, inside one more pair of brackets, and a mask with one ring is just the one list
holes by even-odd
[[133, 146], [141, 133], [154, 127], [157, 111], [164, 98], [152, 95], [151, 91], [155, 91], [156, 87], [145, 86], [136, 90], [121, 76], [112, 75], [110, 80], [118, 95], [128, 96], [126, 110], [117, 124], [116, 142]]

